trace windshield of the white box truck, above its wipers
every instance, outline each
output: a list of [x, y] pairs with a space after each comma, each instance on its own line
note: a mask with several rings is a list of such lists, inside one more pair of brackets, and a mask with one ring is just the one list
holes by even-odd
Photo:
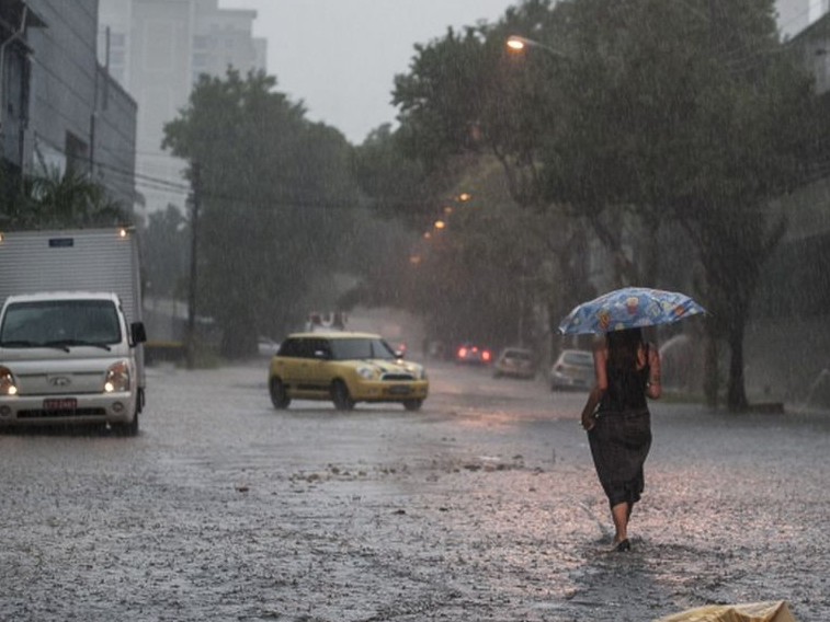
[[9, 304], [0, 347], [107, 346], [121, 342], [111, 300], [38, 300]]

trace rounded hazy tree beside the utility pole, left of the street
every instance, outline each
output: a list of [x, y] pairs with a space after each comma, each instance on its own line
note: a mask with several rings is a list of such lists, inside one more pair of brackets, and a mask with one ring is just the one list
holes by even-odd
[[359, 205], [349, 143], [275, 87], [263, 72], [202, 76], [164, 127], [163, 146], [200, 166], [200, 312], [216, 318], [229, 357], [305, 318], [309, 284], [331, 274]]

